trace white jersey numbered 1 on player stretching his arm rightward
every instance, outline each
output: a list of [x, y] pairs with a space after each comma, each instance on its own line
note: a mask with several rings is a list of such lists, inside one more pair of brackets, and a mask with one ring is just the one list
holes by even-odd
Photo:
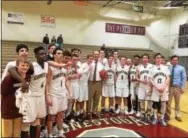
[[66, 96], [66, 86], [65, 86], [65, 77], [67, 75], [67, 70], [64, 68], [50, 67], [52, 70], [52, 81], [50, 95], [56, 97], [65, 97]]

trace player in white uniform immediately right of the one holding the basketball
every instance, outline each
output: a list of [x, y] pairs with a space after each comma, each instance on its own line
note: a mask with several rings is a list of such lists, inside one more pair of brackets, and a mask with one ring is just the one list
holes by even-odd
[[126, 58], [122, 56], [120, 58], [120, 65], [117, 66], [116, 74], [117, 74], [117, 81], [116, 81], [116, 102], [118, 104], [118, 108], [116, 110], [116, 114], [119, 114], [121, 111], [121, 102], [122, 98], [124, 100], [124, 113], [128, 114], [128, 107], [127, 107], [127, 98], [129, 96], [129, 80], [128, 80], [128, 72], [129, 67], [125, 64]]

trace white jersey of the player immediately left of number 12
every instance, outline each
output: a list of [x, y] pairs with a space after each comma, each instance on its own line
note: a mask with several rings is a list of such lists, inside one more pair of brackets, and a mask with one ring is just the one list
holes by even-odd
[[[140, 80], [149, 81], [149, 73], [152, 67], [153, 65], [150, 63], [148, 63], [146, 66], [144, 66], [143, 64], [139, 65], [138, 70], [139, 70]], [[145, 84], [140, 83], [140, 86], [145, 86]]]

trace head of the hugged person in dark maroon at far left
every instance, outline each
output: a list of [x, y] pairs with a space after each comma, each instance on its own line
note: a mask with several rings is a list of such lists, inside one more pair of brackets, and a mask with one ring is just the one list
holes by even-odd
[[17, 70], [20, 74], [26, 74], [29, 70], [29, 61], [24, 58], [19, 58], [18, 63], [16, 65]]

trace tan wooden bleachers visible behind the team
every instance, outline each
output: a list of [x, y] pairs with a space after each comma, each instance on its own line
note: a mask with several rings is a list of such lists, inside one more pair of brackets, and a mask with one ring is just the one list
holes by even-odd
[[[2, 41], [2, 63], [1, 63], [1, 69], [2, 71], [4, 70], [7, 62], [13, 61], [16, 59], [17, 54], [15, 51], [16, 45], [24, 43], [29, 46], [29, 60], [34, 61], [35, 56], [33, 53], [33, 49], [37, 46], [42, 46], [43, 44], [40, 42], [24, 42], [24, 41]], [[72, 48], [80, 48], [82, 50], [82, 59], [86, 59], [87, 54], [92, 54], [93, 50], [99, 50], [100, 46], [92, 46], [92, 45], [72, 45], [72, 44], [64, 44], [64, 48], [67, 50], [71, 50]], [[114, 49], [115, 47], [110, 47]], [[151, 50], [147, 49], [132, 49], [132, 48], [117, 48], [116, 49], [119, 51], [119, 55], [125, 55], [126, 57], [132, 58], [133, 55], [138, 54], [141, 55], [143, 53], [149, 54], [151, 57], [153, 57], [154, 53]]]

